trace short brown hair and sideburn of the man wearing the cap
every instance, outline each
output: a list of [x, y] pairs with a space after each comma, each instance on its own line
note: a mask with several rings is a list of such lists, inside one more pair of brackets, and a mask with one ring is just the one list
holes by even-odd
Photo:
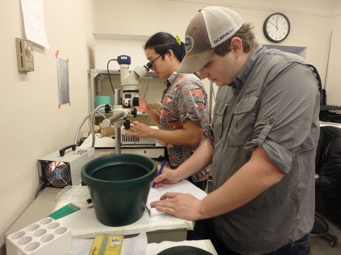
[[255, 39], [255, 35], [251, 31], [253, 26], [250, 23], [244, 23], [242, 27], [233, 34], [232, 37], [228, 38], [225, 42], [215, 47], [214, 52], [219, 56], [225, 56], [228, 52], [231, 51], [231, 40], [234, 37], [239, 37], [242, 39], [243, 43], [243, 51], [245, 53], [251, 51], [255, 46], [258, 45], [258, 42]]

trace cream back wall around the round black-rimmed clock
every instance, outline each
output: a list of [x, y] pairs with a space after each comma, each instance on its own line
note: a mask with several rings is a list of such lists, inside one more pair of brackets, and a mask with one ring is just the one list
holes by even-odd
[[[274, 12], [283, 12], [290, 20], [291, 30], [289, 36], [276, 45], [305, 48], [306, 60], [319, 70], [324, 84], [334, 0], [287, 0], [285, 3], [280, 0], [101, 0], [95, 8], [95, 33], [149, 37], [165, 31], [178, 34], [183, 40], [191, 17], [210, 5], [226, 6], [238, 12], [245, 22], [253, 23], [256, 38], [263, 44], [272, 44], [263, 34], [265, 18]], [[101, 53], [105, 54], [105, 50]], [[140, 52], [134, 53], [140, 57]], [[209, 82], [204, 83], [208, 88]]]

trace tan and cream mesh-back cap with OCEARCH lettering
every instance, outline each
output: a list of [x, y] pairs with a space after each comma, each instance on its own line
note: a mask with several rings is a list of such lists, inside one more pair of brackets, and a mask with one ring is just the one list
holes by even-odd
[[178, 72], [194, 73], [203, 68], [214, 48], [225, 42], [243, 25], [238, 13], [221, 6], [210, 6], [191, 19], [186, 30], [186, 55]]

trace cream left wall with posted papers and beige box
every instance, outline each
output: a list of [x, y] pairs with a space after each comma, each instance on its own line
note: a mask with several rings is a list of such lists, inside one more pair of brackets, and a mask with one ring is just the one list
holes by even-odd
[[[35, 71], [17, 68], [15, 37], [25, 38], [19, 0], [0, 5], [0, 247], [35, 198], [37, 159], [73, 143], [88, 113], [87, 69], [94, 68], [94, 0], [43, 1], [50, 49], [34, 45]], [[70, 59], [71, 107], [58, 109], [55, 52]], [[3, 254], [4, 249], [0, 250]]]

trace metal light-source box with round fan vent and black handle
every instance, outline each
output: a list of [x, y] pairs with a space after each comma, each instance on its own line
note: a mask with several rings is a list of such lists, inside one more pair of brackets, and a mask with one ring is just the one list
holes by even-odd
[[80, 171], [95, 158], [95, 148], [68, 150], [64, 156], [59, 151], [38, 159], [39, 176], [49, 187], [77, 186], [81, 183]]

